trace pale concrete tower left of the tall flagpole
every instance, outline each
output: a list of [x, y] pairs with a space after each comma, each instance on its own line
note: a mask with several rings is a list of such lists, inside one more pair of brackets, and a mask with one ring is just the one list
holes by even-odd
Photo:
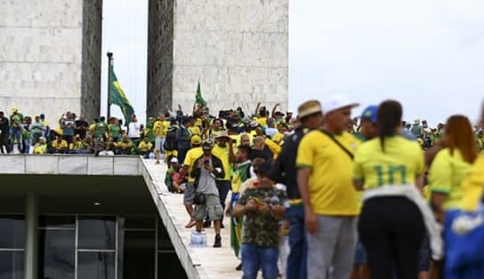
[[99, 116], [101, 0], [0, 1], [0, 110]]

